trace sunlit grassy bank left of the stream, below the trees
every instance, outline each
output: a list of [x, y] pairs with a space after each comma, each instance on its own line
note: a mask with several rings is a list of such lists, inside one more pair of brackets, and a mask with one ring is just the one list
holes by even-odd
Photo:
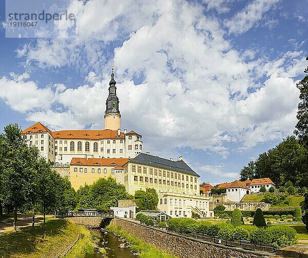
[[[0, 233], [0, 257], [52, 257], [65, 251], [80, 233], [86, 233], [84, 230], [75, 224], [57, 219], [35, 227], [20, 228], [17, 232]], [[87, 240], [87, 237], [82, 240]]]

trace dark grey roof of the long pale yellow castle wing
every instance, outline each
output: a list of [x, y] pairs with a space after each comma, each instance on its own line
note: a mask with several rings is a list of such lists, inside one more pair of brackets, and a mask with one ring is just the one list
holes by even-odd
[[131, 163], [137, 163], [142, 165], [148, 165], [153, 167], [159, 167], [162, 169], [169, 169], [185, 174], [199, 176], [194, 170], [192, 170], [183, 160], [170, 161], [166, 158], [153, 156], [150, 154], [140, 153], [137, 157], [130, 160]]

